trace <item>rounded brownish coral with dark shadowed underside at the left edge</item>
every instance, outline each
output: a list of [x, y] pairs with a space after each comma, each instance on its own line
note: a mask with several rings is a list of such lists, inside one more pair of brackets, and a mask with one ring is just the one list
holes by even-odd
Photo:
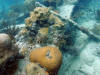
[[[0, 34], [0, 72], [2, 75], [13, 75], [17, 69], [18, 47], [12, 42], [8, 34]], [[13, 68], [13, 69], [12, 69]], [[0, 73], [0, 75], [1, 75]]]

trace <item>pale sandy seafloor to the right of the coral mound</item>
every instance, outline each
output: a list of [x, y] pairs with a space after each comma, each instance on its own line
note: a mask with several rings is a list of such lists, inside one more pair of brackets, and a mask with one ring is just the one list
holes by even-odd
[[[95, 11], [100, 10], [100, 0], [73, 0], [69, 3], [66, 0], [62, 6], [58, 7], [58, 11], [62, 17], [70, 18], [79, 10], [78, 5], [84, 7], [80, 9], [84, 14], [75, 19], [80, 26], [91, 30], [95, 24], [100, 24], [100, 21], [97, 21], [95, 18]], [[92, 41], [86, 34], [77, 31], [75, 45], [79, 47], [78, 56], [72, 58], [65, 53], [58, 75], [100, 75], [100, 42]], [[70, 66], [66, 67], [66, 64], [69, 63]], [[23, 68], [24, 65], [24, 60], [21, 60], [19, 62], [19, 68]]]

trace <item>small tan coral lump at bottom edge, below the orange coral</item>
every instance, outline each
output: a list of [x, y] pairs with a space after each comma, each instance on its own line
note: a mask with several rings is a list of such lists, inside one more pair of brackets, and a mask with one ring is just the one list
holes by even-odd
[[26, 66], [26, 75], [49, 75], [43, 68], [36, 63], [30, 63]]

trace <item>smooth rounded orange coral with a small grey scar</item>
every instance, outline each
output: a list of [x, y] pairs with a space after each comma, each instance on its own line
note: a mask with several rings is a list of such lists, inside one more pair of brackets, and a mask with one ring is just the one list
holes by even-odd
[[39, 63], [48, 72], [57, 72], [62, 62], [62, 53], [56, 47], [45, 46], [33, 50], [30, 61]]

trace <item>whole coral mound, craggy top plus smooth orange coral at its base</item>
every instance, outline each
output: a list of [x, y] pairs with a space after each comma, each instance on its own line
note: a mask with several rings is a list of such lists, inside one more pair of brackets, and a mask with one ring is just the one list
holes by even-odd
[[[57, 75], [62, 63], [60, 50], [63, 51], [69, 37], [65, 29], [66, 23], [51, 13], [49, 8], [36, 7], [26, 18], [25, 27], [15, 37], [25, 61], [33, 65], [39, 63], [49, 75]], [[28, 65], [27, 74], [35, 73], [32, 67]]]

